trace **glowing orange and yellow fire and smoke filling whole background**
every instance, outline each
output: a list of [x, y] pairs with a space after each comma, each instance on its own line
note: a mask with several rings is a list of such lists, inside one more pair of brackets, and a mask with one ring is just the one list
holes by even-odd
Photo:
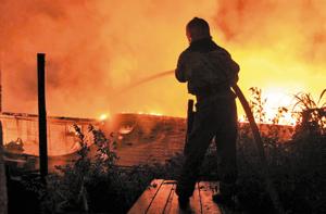
[[240, 64], [242, 90], [262, 88], [266, 111], [274, 115], [292, 95], [316, 97], [325, 87], [325, 11], [321, 0], [2, 0], [3, 109], [36, 113], [36, 52], [46, 52], [50, 115], [186, 116], [189, 96], [173, 75], [115, 92], [173, 70], [188, 46], [186, 23], [201, 16], [211, 24], [214, 40]]

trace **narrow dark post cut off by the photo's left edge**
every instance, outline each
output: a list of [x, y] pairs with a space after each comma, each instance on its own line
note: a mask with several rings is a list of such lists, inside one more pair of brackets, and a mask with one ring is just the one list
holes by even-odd
[[0, 214], [8, 213], [7, 176], [4, 167], [4, 152], [2, 138], [2, 123], [0, 121]]

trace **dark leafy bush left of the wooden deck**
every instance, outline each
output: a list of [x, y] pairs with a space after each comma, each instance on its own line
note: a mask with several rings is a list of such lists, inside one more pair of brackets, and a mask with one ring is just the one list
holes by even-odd
[[79, 137], [79, 158], [73, 165], [57, 166], [59, 173], [47, 177], [47, 188], [37, 190], [42, 213], [125, 213], [154, 175], [139, 171], [141, 166], [117, 167], [117, 156], [111, 150], [114, 142], [92, 126], [89, 131], [97, 153], [90, 159], [84, 134], [77, 126], [75, 129]]

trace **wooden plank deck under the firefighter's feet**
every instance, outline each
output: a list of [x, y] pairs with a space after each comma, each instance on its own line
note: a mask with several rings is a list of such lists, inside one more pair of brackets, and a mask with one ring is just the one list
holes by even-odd
[[224, 212], [212, 201], [212, 194], [218, 189], [218, 182], [200, 181], [196, 184], [193, 196], [190, 198], [190, 205], [187, 211], [181, 211], [178, 205], [178, 196], [175, 193], [176, 181], [154, 179], [140, 196], [137, 202], [128, 212], [129, 214], [220, 214]]

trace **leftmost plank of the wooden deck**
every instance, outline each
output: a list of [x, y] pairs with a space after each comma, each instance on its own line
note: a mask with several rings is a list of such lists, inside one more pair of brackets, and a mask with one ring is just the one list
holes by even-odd
[[160, 190], [163, 181], [163, 179], [152, 180], [148, 189], [140, 196], [140, 198], [136, 201], [136, 203], [133, 205], [128, 213], [146, 213], [150, 204], [152, 203], [152, 200], [155, 198], [158, 191]]

